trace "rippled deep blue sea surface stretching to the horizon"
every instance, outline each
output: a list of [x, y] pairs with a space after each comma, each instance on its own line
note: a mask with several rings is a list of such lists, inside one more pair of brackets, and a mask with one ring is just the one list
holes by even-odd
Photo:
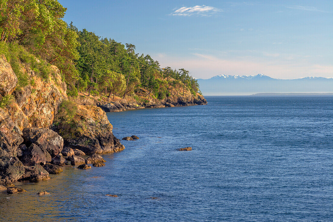
[[27, 193], [0, 193], [0, 221], [333, 221], [333, 97], [206, 99], [107, 113], [140, 139], [105, 167], [15, 183]]

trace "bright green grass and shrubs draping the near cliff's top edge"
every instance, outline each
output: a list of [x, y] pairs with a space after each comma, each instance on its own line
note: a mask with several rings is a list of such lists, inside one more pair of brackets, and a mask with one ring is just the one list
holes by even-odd
[[22, 72], [21, 63], [25, 63], [43, 80], [47, 80], [49, 78], [49, 74], [53, 72], [49, 63], [37, 59], [34, 55], [15, 42], [0, 42], [0, 54], [6, 57], [15, 75], [17, 76], [17, 88], [32, 85], [29, 76]]

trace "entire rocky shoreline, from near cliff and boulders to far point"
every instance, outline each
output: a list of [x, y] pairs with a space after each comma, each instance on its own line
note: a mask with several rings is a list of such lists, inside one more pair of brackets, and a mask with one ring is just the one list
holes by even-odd
[[[6, 57], [0, 57], [0, 184], [7, 186], [17, 180], [50, 179], [49, 173], [61, 173], [65, 164], [80, 165], [82, 169], [89, 168], [83, 164], [90, 163], [104, 166], [105, 160], [97, 154], [125, 148], [113, 135], [106, 111], [207, 103], [200, 94], [184, 89], [174, 89], [174, 95], [161, 100], [153, 96], [138, 100], [84, 93], [68, 97], [57, 67], [50, 66], [48, 78], [41, 78], [22, 61], [19, 68], [28, 79], [24, 86], [18, 85]], [[7, 192], [21, 191], [8, 188]]]

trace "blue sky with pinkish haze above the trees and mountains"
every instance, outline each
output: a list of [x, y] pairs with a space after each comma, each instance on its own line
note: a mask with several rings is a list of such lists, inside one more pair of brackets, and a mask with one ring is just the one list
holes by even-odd
[[332, 1], [59, 2], [66, 22], [196, 78], [333, 77]]

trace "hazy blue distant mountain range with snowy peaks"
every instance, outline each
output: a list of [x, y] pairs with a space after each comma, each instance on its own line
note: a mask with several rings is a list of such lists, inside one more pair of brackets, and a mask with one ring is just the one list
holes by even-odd
[[333, 93], [333, 78], [323, 77], [283, 80], [263, 74], [256, 76], [218, 75], [210, 79], [198, 79], [198, 83], [204, 96], [256, 93]]

